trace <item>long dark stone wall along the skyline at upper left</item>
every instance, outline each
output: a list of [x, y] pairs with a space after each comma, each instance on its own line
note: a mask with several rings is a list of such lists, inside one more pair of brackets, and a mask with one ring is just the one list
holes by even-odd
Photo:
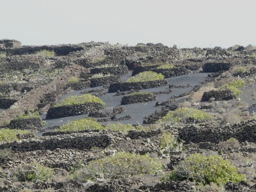
[[79, 45], [43, 45], [43, 46], [22, 46], [14, 49], [1, 49], [0, 52], [6, 52], [10, 55], [34, 54], [37, 51], [54, 51], [57, 56], [66, 56], [70, 52], [83, 50]]

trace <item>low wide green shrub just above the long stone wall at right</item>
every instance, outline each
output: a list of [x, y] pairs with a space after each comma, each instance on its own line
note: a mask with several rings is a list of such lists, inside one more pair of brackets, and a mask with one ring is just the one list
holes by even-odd
[[166, 116], [164, 116], [162, 119], [158, 121], [162, 123], [178, 123], [189, 117], [198, 120], [213, 120], [213, 117], [207, 112], [198, 109], [184, 107], [167, 113]]

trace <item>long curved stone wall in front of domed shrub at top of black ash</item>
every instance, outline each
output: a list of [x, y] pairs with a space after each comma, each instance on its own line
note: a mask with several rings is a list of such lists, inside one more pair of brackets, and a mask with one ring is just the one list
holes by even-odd
[[131, 89], [141, 90], [141, 89], [149, 89], [154, 87], [162, 87], [166, 86], [168, 82], [164, 80], [156, 80], [156, 81], [142, 81], [142, 82], [125, 82], [125, 83], [113, 83], [109, 86], [109, 93], [114, 93], [119, 91], [129, 91]]

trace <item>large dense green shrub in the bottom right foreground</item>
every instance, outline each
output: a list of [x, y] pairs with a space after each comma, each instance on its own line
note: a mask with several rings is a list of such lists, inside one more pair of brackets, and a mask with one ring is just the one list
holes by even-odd
[[186, 160], [180, 162], [177, 167], [163, 180], [189, 179], [204, 185], [211, 182], [225, 185], [228, 181], [240, 182], [246, 180], [246, 176], [238, 173], [239, 169], [221, 156], [192, 154]]

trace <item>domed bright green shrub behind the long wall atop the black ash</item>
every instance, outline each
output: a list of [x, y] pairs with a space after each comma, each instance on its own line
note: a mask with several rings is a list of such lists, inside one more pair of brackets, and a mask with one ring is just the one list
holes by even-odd
[[132, 76], [126, 82], [142, 82], [142, 81], [156, 81], [163, 80], [164, 76], [161, 73], [155, 73], [152, 71], [141, 72], [135, 76]]

